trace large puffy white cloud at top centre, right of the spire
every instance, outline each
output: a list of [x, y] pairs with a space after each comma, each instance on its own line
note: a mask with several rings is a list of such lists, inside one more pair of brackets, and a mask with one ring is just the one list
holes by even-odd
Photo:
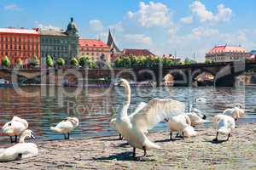
[[167, 26], [171, 21], [169, 8], [163, 3], [141, 2], [139, 10], [134, 13], [129, 11], [127, 16], [128, 19], [137, 20], [144, 27]]

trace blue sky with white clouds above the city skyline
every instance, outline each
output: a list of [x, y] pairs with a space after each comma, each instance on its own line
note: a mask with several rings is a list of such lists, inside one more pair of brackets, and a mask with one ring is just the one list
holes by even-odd
[[66, 30], [70, 17], [80, 37], [119, 48], [146, 48], [203, 61], [216, 45], [256, 49], [254, 0], [0, 0], [0, 27]]

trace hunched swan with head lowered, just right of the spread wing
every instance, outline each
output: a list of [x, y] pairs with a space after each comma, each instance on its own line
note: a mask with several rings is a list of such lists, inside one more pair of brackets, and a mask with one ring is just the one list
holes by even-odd
[[167, 125], [170, 130], [170, 140], [172, 140], [173, 132], [182, 134], [182, 137], [191, 137], [197, 134], [194, 128], [191, 127], [191, 122], [188, 115], [181, 114], [178, 116], [172, 116], [168, 119]]

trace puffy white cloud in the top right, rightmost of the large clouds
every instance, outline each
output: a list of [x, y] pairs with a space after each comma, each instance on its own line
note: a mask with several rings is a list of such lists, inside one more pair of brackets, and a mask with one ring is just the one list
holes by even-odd
[[200, 1], [195, 1], [190, 5], [192, 13], [196, 14], [201, 22], [205, 21], [229, 21], [232, 18], [232, 9], [224, 7], [224, 4], [218, 5], [218, 13], [213, 14], [212, 11], [207, 10], [206, 6]]

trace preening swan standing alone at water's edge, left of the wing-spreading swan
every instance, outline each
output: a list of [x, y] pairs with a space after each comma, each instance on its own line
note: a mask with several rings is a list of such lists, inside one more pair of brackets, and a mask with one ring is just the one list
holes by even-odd
[[50, 129], [56, 133], [64, 134], [64, 139], [69, 139], [70, 132], [78, 126], [79, 119], [77, 117], [67, 117], [63, 121], [59, 122], [55, 127], [50, 127]]

